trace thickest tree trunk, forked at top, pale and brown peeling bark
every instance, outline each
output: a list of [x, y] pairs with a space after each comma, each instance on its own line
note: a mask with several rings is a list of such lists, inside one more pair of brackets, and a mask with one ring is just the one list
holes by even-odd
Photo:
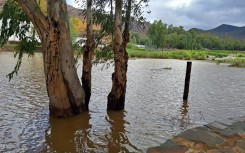
[[49, 0], [45, 17], [35, 0], [17, 0], [37, 29], [42, 43], [50, 115], [68, 117], [85, 110], [77, 76], [65, 1]]

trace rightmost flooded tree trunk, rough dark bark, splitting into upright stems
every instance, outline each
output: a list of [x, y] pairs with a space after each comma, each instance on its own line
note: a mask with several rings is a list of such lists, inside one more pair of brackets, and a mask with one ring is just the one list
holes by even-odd
[[113, 42], [115, 72], [112, 74], [112, 89], [108, 95], [108, 110], [122, 110], [125, 105], [128, 68], [128, 53], [126, 51], [126, 46], [129, 42], [130, 11], [131, 0], [128, 0], [125, 29], [122, 35], [122, 0], [116, 1]]

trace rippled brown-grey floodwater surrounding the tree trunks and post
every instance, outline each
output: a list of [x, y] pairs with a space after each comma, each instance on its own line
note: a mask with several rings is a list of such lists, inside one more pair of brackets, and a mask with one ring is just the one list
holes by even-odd
[[136, 59], [129, 61], [124, 111], [106, 111], [113, 67], [98, 64], [90, 111], [50, 118], [41, 54], [25, 57], [8, 82], [15, 63], [13, 53], [0, 52], [0, 152], [145, 152], [188, 128], [244, 115], [245, 69], [193, 61], [183, 102], [186, 61]]

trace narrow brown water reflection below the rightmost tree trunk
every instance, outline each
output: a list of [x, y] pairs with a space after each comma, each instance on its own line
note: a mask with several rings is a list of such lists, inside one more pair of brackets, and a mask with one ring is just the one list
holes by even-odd
[[109, 153], [115, 152], [139, 152], [141, 151], [134, 146], [128, 139], [125, 130], [129, 124], [125, 121], [125, 111], [108, 111], [106, 120], [110, 123], [110, 133], [106, 136], [108, 145], [107, 149]]

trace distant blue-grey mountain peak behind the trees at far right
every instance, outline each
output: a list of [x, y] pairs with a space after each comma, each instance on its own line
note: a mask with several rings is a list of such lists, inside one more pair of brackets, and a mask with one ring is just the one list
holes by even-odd
[[219, 36], [231, 36], [236, 39], [245, 40], [245, 26], [237, 27], [228, 24], [222, 24], [214, 29], [210, 30], [202, 30], [193, 28], [192, 30], [196, 31], [197, 33], [213, 33]]

